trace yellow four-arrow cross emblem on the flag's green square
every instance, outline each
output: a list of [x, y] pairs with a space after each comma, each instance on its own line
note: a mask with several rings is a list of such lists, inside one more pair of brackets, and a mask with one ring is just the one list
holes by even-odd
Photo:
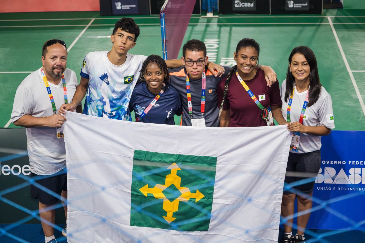
[[[188, 187], [180, 186], [181, 177], [177, 175], [177, 171], [181, 171], [181, 169], [176, 163], [170, 165], [168, 169], [171, 169], [171, 173], [166, 176], [165, 185], [156, 184], [153, 188], [150, 188], [148, 187], [148, 184], [146, 184], [144, 187], [139, 189], [139, 191], [141, 191], [145, 196], [150, 193], [157, 199], [163, 199], [164, 203], [162, 208], [167, 212], [167, 215], [162, 217], [164, 217], [167, 223], [171, 223], [176, 219], [176, 217], [173, 217], [173, 213], [178, 210], [180, 201], [186, 202], [191, 198], [195, 198], [195, 202], [197, 202], [202, 199], [204, 195], [198, 190], [196, 190], [196, 193], [191, 193]], [[174, 186], [181, 192], [181, 195], [171, 202], [162, 191], [172, 184], [174, 184]]]

